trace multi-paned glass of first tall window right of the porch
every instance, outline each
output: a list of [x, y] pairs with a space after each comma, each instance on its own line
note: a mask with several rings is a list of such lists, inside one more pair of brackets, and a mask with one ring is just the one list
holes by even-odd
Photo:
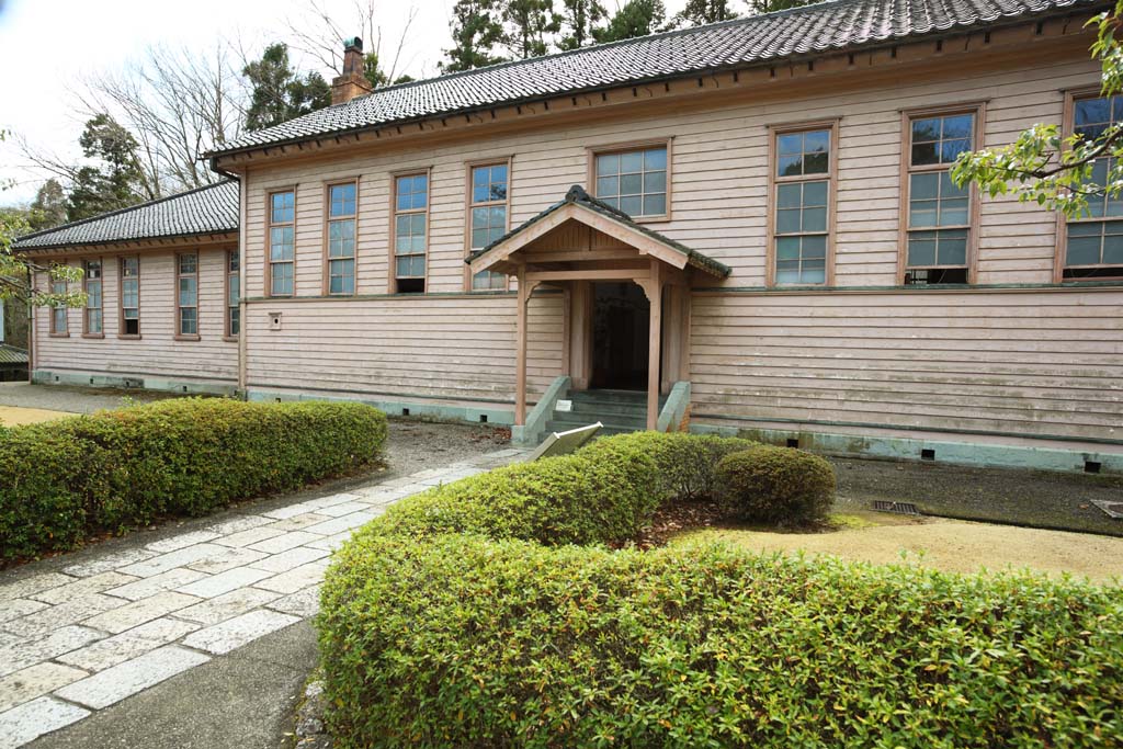
[[776, 284], [825, 284], [831, 129], [777, 133], [773, 253]]

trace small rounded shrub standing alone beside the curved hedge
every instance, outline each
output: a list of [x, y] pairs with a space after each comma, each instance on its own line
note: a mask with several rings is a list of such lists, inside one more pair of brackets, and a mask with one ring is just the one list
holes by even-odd
[[803, 526], [825, 520], [834, 501], [831, 464], [788, 447], [730, 453], [714, 474], [722, 505], [739, 520]]

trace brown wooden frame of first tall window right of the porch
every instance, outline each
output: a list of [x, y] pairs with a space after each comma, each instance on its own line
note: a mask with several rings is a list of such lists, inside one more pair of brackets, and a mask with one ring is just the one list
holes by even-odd
[[[768, 126], [768, 195], [767, 195], [767, 237], [766, 249], [766, 285], [769, 289], [788, 289], [801, 286], [813, 286], [816, 289], [829, 289], [834, 285], [834, 232], [836, 232], [836, 204], [838, 203], [838, 173], [839, 173], [839, 122], [841, 118], [809, 120], [791, 122], [784, 125]], [[827, 130], [830, 134], [830, 154], [827, 158], [827, 172], [809, 176], [806, 174], [793, 176], [778, 176], [776, 166], [779, 164], [778, 140], [782, 135], [793, 135], [796, 133], [811, 133], [814, 130]], [[776, 281], [776, 211], [779, 209], [779, 185], [802, 182], [827, 181], [827, 256], [824, 259], [823, 283], [777, 283]], [[803, 236], [803, 235], [797, 235]]]

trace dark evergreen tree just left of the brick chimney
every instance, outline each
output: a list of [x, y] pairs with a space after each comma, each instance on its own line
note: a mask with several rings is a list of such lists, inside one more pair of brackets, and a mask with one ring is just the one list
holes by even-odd
[[319, 73], [303, 77], [289, 63], [289, 47], [271, 44], [257, 62], [241, 71], [253, 92], [246, 110], [246, 128], [280, 125], [294, 117], [323, 109], [331, 103], [331, 86]]

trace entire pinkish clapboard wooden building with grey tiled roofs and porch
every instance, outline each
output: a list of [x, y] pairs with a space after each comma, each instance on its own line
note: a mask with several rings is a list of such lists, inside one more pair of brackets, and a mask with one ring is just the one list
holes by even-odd
[[343, 76], [211, 154], [230, 182], [25, 238], [94, 262], [102, 305], [99, 332], [38, 312], [33, 376], [1123, 471], [1123, 211], [948, 176], [1035, 122], [1123, 117], [1088, 54], [1107, 7], [832, 0]]

